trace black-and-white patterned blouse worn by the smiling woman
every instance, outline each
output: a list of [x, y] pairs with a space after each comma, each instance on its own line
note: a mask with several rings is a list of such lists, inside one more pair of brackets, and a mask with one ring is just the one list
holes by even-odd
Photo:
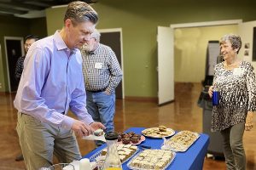
[[253, 66], [242, 61], [238, 68], [215, 66], [213, 84], [220, 93], [219, 105], [213, 106], [212, 131], [221, 131], [246, 121], [247, 111], [256, 111], [256, 83]]

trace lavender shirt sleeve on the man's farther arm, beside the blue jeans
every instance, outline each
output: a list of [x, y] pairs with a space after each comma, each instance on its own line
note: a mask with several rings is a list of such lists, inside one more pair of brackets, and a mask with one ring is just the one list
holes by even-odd
[[93, 121], [92, 117], [86, 109], [86, 93], [84, 89], [84, 78], [81, 71], [81, 81], [78, 88], [73, 91], [72, 100], [69, 103], [70, 110], [79, 118], [80, 121], [90, 124]]

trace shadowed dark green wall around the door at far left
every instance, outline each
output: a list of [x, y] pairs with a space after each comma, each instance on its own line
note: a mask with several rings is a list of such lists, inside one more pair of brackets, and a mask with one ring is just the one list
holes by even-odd
[[2, 88], [0, 92], [9, 91], [8, 71], [5, 57], [4, 37], [26, 37], [29, 34], [35, 34], [39, 37], [45, 37], [46, 19], [23, 19], [13, 16], [0, 16], [0, 44], [1, 44], [1, 58], [0, 58], [0, 83]]

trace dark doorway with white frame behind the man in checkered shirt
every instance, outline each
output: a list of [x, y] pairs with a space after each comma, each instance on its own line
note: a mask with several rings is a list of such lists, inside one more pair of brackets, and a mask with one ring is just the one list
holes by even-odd
[[123, 53], [122, 53], [122, 29], [102, 29], [101, 32], [101, 43], [112, 48], [116, 55], [119, 65], [123, 71], [122, 81], [118, 87], [115, 88], [116, 99], [124, 99], [124, 66], [123, 66]]

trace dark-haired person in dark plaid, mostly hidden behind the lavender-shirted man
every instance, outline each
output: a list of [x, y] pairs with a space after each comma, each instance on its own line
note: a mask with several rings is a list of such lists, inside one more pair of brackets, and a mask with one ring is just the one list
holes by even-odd
[[16, 63], [16, 68], [15, 68], [15, 79], [17, 82], [20, 82], [20, 77], [24, 68], [24, 59], [26, 57], [26, 53], [30, 46], [32, 45], [33, 42], [36, 42], [38, 40], [38, 36], [34, 35], [29, 35], [25, 37], [25, 44], [24, 44], [24, 49], [25, 49], [25, 55], [21, 56]]

